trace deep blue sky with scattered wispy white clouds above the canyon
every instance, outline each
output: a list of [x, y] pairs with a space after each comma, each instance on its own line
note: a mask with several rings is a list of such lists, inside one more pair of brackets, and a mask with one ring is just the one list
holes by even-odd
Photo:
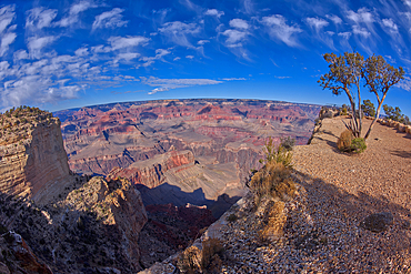
[[[28, 1], [0, 3], [0, 110], [244, 98], [342, 104], [322, 54], [403, 67], [385, 103], [411, 115], [411, 0]], [[375, 100], [365, 88], [363, 99]]]

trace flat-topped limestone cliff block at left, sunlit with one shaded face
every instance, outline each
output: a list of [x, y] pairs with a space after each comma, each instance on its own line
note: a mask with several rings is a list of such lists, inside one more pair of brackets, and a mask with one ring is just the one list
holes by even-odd
[[40, 202], [71, 181], [58, 118], [21, 108], [1, 115], [0, 132], [2, 193]]

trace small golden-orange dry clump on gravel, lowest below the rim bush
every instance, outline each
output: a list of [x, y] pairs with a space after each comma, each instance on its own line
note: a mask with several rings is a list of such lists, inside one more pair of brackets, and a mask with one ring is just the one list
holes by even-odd
[[278, 240], [283, 235], [287, 215], [284, 213], [284, 202], [278, 201], [272, 206], [268, 207], [267, 221], [259, 235], [261, 240]]

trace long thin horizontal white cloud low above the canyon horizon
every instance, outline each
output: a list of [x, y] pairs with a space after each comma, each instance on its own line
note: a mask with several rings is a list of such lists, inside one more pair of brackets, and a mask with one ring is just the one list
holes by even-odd
[[158, 87], [153, 89], [149, 94], [154, 94], [160, 91], [168, 91], [172, 89], [188, 88], [194, 85], [209, 85], [209, 84], [219, 84], [223, 81], [211, 80], [211, 79], [160, 79], [156, 77], [140, 77], [141, 83]]

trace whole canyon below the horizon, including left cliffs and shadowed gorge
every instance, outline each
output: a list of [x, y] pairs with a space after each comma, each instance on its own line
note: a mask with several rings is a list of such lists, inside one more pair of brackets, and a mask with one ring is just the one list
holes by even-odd
[[269, 136], [307, 143], [319, 110], [211, 99], [113, 103], [54, 116], [11, 110], [1, 120], [0, 215], [1, 230], [19, 234], [3, 234], [4, 262], [43, 273], [149, 267], [184, 250], [247, 193]]

